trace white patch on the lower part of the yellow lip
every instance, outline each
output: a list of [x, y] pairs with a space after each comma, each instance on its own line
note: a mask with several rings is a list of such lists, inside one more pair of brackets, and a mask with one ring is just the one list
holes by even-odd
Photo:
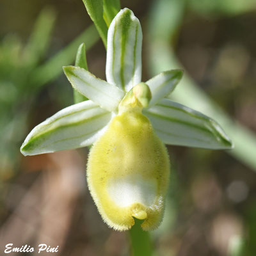
[[110, 198], [120, 207], [140, 203], [147, 207], [155, 203], [157, 182], [140, 174], [125, 175], [109, 180], [108, 193]]

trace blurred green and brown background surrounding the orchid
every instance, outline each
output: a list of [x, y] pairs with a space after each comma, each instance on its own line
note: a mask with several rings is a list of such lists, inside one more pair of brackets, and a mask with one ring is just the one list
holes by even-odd
[[[173, 99], [219, 121], [236, 144], [232, 152], [168, 148], [172, 175], [163, 224], [151, 233], [155, 255], [254, 256], [255, 0], [121, 6], [141, 21], [143, 81], [182, 65]], [[72, 104], [62, 66], [74, 63], [82, 42], [90, 72], [104, 78], [106, 52], [83, 1], [0, 0], [1, 254], [7, 243], [60, 246], [64, 256], [131, 253], [127, 234], [102, 222], [88, 193], [87, 149], [19, 152], [36, 124]]]

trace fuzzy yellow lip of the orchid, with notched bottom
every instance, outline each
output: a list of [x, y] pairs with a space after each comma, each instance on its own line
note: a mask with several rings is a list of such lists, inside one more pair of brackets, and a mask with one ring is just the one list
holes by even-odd
[[[143, 230], [158, 227], [163, 218], [169, 175], [166, 147], [137, 108], [115, 116], [90, 150], [87, 170], [90, 193], [102, 219], [116, 230], [131, 228], [133, 217], [144, 220]], [[129, 191], [129, 188], [135, 189]], [[118, 203], [120, 198], [123, 200]]]

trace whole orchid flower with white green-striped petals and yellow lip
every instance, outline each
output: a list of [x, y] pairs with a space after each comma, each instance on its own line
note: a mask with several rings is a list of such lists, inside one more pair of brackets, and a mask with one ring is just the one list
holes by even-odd
[[26, 155], [90, 148], [87, 180], [109, 227], [143, 230], [163, 218], [170, 161], [165, 144], [227, 149], [228, 136], [211, 118], [167, 99], [182, 77], [168, 70], [141, 83], [140, 21], [121, 10], [108, 29], [106, 80], [80, 67], [63, 67], [87, 97], [37, 125], [22, 144]]

